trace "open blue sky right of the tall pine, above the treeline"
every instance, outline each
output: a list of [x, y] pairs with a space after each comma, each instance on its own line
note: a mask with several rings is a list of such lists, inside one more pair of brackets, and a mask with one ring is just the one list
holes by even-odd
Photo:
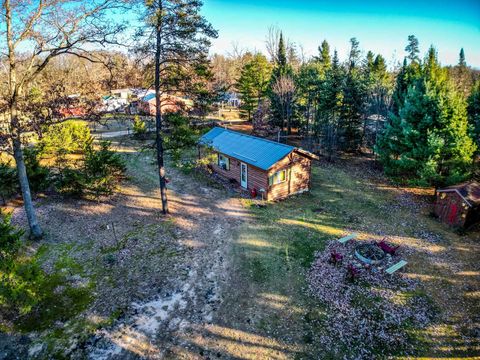
[[219, 30], [212, 53], [228, 53], [234, 42], [265, 52], [273, 25], [306, 55], [316, 54], [327, 39], [343, 59], [349, 39], [356, 37], [362, 50], [392, 63], [403, 59], [407, 37], [414, 34], [422, 56], [433, 44], [443, 65], [455, 64], [463, 47], [467, 63], [480, 68], [480, 0], [204, 0], [203, 14]]

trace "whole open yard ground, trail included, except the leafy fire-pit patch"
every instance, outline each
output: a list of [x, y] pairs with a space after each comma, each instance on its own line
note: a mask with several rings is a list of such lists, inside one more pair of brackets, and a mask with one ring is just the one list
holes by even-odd
[[[32, 319], [2, 334], [0, 358], [338, 358], [319, 341], [331, 314], [306, 275], [315, 252], [351, 232], [401, 245], [405, 275], [432, 300], [434, 321], [411, 329], [419, 355], [480, 355], [480, 235], [439, 224], [425, 191], [348, 159], [316, 164], [311, 193], [257, 207], [170, 168], [165, 218], [152, 153], [115, 145], [130, 178], [113, 198], [36, 203], [47, 235], [30, 251], [88, 293], [63, 317], [48, 312], [47, 328]], [[21, 208], [14, 219], [24, 225]]]

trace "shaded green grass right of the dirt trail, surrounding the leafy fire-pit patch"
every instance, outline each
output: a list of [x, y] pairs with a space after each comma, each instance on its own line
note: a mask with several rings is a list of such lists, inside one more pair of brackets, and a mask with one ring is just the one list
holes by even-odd
[[[285, 357], [334, 357], [315, 340], [322, 332], [325, 310], [307, 294], [305, 272], [315, 252], [328, 240], [353, 232], [360, 240], [387, 236], [401, 245], [402, 256], [409, 261], [407, 276], [435, 278], [423, 282], [421, 294], [403, 294], [399, 299], [407, 302], [409, 297], [427, 297], [438, 310], [432, 328], [407, 329], [419, 354], [480, 355], [478, 342], [469, 333], [478, 322], [468, 322], [478, 314], [478, 303], [467, 298], [463, 279], [451, 281], [458, 269], [475, 269], [478, 258], [472, 240], [479, 234], [455, 234], [429, 216], [425, 191], [392, 186], [362, 166], [322, 163], [314, 167], [311, 193], [266, 207], [244, 201], [254, 220], [239, 232], [233, 250], [238, 273], [233, 275], [235, 285], [224, 306], [230, 314], [231, 308], [235, 309], [233, 323], [242, 330], [273, 337], [284, 349], [297, 349], [293, 353], [285, 350]], [[468, 248], [469, 253], [458, 248]], [[445, 266], [445, 262], [453, 266]], [[478, 281], [468, 280], [471, 290], [478, 289]], [[359, 306], [374, 306], [362, 299], [358, 302]], [[469, 331], [462, 332], [464, 322]], [[454, 330], [444, 332], [439, 324], [453, 325]], [[472, 340], [460, 341], [465, 336]]]

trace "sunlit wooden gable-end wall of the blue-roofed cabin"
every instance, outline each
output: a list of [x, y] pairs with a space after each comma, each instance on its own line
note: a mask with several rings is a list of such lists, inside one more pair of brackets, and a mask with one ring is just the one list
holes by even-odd
[[268, 189], [268, 200], [282, 199], [292, 194], [310, 190], [312, 170], [310, 159], [293, 152], [276, 163], [269, 170], [268, 176], [281, 170], [287, 170], [287, 181], [271, 185]]

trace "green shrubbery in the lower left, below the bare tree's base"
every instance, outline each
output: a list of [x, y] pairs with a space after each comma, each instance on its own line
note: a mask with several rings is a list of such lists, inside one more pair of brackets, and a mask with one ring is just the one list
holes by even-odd
[[[87, 286], [73, 287], [62, 269], [47, 274], [25, 255], [23, 231], [0, 212], [0, 311], [12, 329], [43, 330], [82, 311], [91, 300]], [[58, 263], [57, 263], [58, 264]]]

